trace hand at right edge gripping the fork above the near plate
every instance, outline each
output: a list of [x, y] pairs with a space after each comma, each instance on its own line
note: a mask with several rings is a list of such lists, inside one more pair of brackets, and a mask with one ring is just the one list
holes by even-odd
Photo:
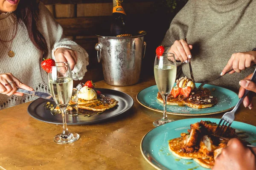
[[[238, 94], [239, 98], [244, 96], [245, 90], [256, 92], [256, 83], [250, 81], [252, 76], [253, 76], [253, 73], [250, 74], [249, 76], [245, 77], [243, 80], [239, 81], [239, 85], [241, 85], [241, 87], [239, 89], [239, 94]], [[244, 104], [245, 108], [248, 107], [250, 110], [253, 108], [252, 99], [253, 99], [252, 93], [249, 93], [249, 95], [247, 95], [244, 98], [243, 104]]]

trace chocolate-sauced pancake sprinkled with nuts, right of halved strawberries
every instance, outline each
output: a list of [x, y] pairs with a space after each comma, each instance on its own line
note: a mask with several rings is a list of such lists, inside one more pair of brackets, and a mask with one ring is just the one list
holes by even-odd
[[179, 100], [190, 108], [210, 108], [217, 104], [217, 98], [211, 96], [209, 89], [194, 90], [188, 97], [179, 96]]

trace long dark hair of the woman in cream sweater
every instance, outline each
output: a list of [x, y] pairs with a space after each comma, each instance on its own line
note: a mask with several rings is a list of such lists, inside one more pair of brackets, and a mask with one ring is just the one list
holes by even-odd
[[20, 0], [20, 3], [15, 10], [17, 22], [22, 21], [29, 34], [30, 40], [42, 52], [42, 58], [47, 58], [48, 47], [44, 36], [38, 31], [37, 21], [39, 17], [39, 2], [38, 0]]

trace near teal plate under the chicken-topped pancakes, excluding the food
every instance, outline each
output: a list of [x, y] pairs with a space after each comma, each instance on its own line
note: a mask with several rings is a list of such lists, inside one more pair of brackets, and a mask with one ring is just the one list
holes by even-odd
[[[172, 155], [169, 151], [169, 140], [180, 137], [180, 133], [187, 132], [190, 124], [200, 122], [201, 120], [209, 120], [218, 123], [220, 119], [214, 118], [192, 118], [181, 119], [174, 122], [169, 122], [150, 130], [140, 143], [140, 150], [143, 157], [158, 170], [209, 170], [201, 167], [195, 161], [187, 159], [179, 159]], [[234, 121], [231, 127], [236, 130], [241, 130], [248, 135], [244, 139], [256, 146], [256, 127], [242, 122]]]

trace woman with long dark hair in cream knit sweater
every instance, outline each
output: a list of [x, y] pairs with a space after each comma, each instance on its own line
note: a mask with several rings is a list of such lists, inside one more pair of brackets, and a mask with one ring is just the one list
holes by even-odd
[[66, 61], [73, 79], [87, 71], [88, 54], [63, 35], [63, 29], [37, 0], [0, 0], [0, 109], [36, 99], [17, 87], [49, 92], [41, 61]]

